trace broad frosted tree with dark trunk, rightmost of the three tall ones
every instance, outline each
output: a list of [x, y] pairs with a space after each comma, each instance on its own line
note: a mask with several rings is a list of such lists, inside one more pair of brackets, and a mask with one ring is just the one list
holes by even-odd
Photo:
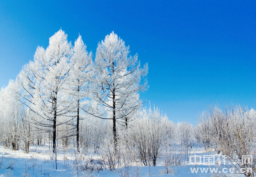
[[141, 68], [138, 55], [131, 56], [129, 53], [129, 46], [126, 47], [124, 41], [112, 32], [99, 42], [95, 56], [93, 100], [104, 106], [107, 113], [112, 113], [112, 117], [97, 114], [92, 109], [88, 112], [102, 119], [113, 120], [115, 146], [116, 122], [127, 119], [140, 107], [142, 102], [136, 98], [138, 92], [148, 88], [147, 79], [141, 81], [148, 73], [148, 64]]

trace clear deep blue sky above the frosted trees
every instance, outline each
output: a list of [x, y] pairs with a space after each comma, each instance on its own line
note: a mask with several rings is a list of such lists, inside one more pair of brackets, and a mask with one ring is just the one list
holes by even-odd
[[0, 86], [60, 28], [94, 54], [114, 30], [148, 62], [141, 98], [173, 122], [215, 103], [256, 108], [256, 1], [1, 1]]

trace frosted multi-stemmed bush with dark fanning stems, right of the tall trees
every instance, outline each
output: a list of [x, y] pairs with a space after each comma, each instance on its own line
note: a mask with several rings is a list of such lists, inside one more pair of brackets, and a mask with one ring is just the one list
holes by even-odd
[[[130, 148], [135, 148], [137, 157], [145, 166], [150, 165], [150, 161], [156, 166], [156, 159], [160, 156], [164, 139], [167, 135], [173, 136], [172, 124], [155, 107], [154, 110], [144, 108], [137, 117], [138, 119], [135, 119], [128, 129]], [[171, 132], [168, 132], [169, 130]]]

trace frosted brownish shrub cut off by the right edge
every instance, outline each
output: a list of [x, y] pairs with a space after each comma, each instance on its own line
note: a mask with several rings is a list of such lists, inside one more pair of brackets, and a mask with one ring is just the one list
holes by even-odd
[[[222, 124], [225, 132], [218, 138], [219, 150], [233, 163], [234, 168], [245, 176], [254, 176], [256, 171], [256, 136], [254, 110], [235, 106], [223, 111]], [[250, 160], [244, 156], [252, 156]], [[244, 170], [243, 170], [244, 169]]]

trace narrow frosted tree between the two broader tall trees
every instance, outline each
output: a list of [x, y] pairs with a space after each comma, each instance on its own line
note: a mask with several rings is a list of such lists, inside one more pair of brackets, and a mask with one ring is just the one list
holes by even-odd
[[89, 95], [88, 75], [91, 70], [92, 53], [88, 54], [80, 35], [75, 41], [73, 51], [70, 61], [69, 89], [72, 100], [76, 102], [76, 148], [79, 151], [79, 108], [80, 102]]

